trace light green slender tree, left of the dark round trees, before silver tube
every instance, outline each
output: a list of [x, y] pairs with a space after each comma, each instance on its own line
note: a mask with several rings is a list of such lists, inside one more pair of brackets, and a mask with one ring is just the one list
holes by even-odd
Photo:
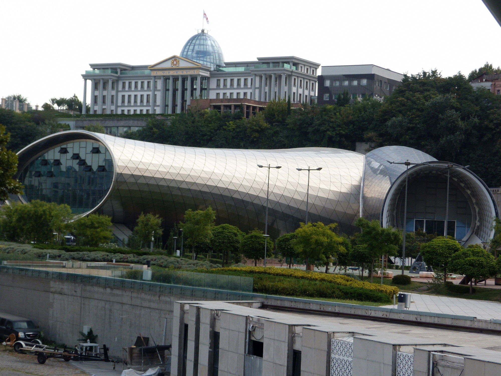
[[184, 223], [180, 222], [179, 228], [183, 230], [186, 244], [191, 246], [193, 260], [196, 260], [195, 245], [210, 240], [214, 220], [215, 213], [210, 206], [205, 210], [184, 212]]

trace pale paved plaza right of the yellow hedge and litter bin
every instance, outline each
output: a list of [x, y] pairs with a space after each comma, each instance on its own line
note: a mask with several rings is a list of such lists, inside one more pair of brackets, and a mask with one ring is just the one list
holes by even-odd
[[[383, 307], [396, 308], [396, 305], [391, 304]], [[501, 303], [418, 293], [412, 293], [410, 310], [472, 316], [484, 320], [501, 319]]]

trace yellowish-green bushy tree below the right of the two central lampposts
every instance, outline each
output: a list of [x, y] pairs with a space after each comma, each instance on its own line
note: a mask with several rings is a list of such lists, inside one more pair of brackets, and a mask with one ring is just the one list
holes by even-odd
[[324, 225], [322, 222], [310, 222], [307, 225], [301, 223], [296, 229], [294, 249], [306, 263], [307, 270], [310, 264], [327, 267], [338, 253], [346, 252], [342, 246], [342, 238], [332, 231], [336, 227], [336, 223]]

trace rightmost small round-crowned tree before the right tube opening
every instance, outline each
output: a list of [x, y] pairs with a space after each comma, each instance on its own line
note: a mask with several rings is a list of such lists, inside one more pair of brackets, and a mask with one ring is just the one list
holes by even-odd
[[496, 274], [494, 256], [478, 244], [470, 244], [468, 248], [454, 253], [450, 258], [449, 268], [470, 278], [470, 294], [473, 293], [473, 278], [476, 281]]

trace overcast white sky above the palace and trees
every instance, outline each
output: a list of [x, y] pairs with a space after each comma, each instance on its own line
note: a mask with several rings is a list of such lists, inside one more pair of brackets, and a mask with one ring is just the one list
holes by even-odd
[[481, 0], [3, 2], [0, 96], [82, 99], [89, 63], [153, 64], [201, 28], [226, 61], [295, 55], [321, 65], [468, 74], [501, 64], [501, 27]]

